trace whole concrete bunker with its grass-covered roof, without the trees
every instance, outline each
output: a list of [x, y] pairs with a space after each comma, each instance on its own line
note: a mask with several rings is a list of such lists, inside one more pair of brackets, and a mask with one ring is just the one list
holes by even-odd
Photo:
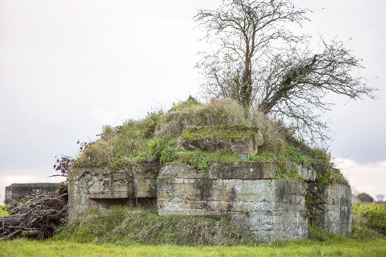
[[[254, 108], [193, 97], [105, 126], [68, 171], [70, 213], [112, 205], [227, 219], [258, 240], [351, 233], [351, 189], [331, 157]], [[75, 214], [74, 214], [75, 216]]]

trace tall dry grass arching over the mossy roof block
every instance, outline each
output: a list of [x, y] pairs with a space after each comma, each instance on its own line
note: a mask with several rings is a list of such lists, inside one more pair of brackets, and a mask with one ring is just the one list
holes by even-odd
[[278, 153], [284, 146], [281, 127], [255, 108], [246, 111], [242, 105], [231, 99], [213, 98], [206, 104], [189, 98], [174, 106], [159, 120], [155, 135], [176, 138], [187, 126], [213, 126], [224, 124], [250, 124], [259, 127], [263, 134], [265, 151]]

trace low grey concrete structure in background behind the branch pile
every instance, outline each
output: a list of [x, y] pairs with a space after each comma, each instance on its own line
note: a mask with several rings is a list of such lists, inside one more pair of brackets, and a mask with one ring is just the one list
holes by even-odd
[[58, 186], [59, 183], [12, 184], [6, 187], [6, 200], [25, 197], [28, 194], [53, 192], [58, 188]]

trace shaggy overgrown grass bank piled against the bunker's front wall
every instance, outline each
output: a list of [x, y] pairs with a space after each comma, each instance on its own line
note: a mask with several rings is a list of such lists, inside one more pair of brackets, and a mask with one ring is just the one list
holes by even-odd
[[251, 245], [257, 241], [228, 220], [208, 217], [159, 216], [156, 209], [114, 206], [88, 211], [53, 237], [81, 243]]

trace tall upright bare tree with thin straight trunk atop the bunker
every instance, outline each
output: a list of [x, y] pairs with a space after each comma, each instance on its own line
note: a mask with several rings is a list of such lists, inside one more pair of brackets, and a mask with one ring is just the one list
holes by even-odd
[[[270, 46], [273, 40], [298, 41], [280, 25], [285, 22], [299, 23], [307, 20], [307, 10], [296, 9], [287, 1], [223, 1], [215, 10], [200, 10], [196, 21], [205, 29], [207, 37], [215, 35], [220, 41], [219, 52], [242, 61], [243, 69], [239, 78], [239, 101], [249, 106], [252, 100], [253, 61]], [[231, 58], [232, 59], [232, 58]]]

